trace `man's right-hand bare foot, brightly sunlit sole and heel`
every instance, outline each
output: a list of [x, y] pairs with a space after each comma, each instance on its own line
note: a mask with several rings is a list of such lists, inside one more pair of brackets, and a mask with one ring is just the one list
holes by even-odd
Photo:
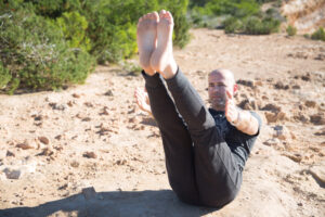
[[172, 78], [177, 73], [177, 63], [172, 55], [173, 20], [169, 11], [161, 10], [157, 25], [157, 48], [152, 54], [151, 66], [159, 72], [165, 79]]

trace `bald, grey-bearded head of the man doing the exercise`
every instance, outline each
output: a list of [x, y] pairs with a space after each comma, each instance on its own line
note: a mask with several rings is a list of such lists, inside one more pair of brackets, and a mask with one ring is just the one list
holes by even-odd
[[229, 71], [213, 71], [209, 74], [209, 101], [211, 107], [217, 111], [224, 111], [226, 91], [234, 93], [234, 77]]

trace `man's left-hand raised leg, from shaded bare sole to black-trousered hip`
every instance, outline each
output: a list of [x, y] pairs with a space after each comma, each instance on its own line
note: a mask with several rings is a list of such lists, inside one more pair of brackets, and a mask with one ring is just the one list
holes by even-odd
[[[138, 24], [138, 46], [140, 64], [144, 67], [143, 77], [148, 93], [151, 110], [162, 138], [166, 155], [166, 167], [171, 188], [184, 202], [198, 204], [198, 191], [194, 173], [194, 154], [192, 140], [182, 118], [168, 94], [159, 76], [151, 68], [147, 52], [155, 47], [155, 26], [157, 13], [140, 18]], [[145, 40], [145, 41], [144, 41]], [[152, 40], [152, 41], [151, 41]]]

